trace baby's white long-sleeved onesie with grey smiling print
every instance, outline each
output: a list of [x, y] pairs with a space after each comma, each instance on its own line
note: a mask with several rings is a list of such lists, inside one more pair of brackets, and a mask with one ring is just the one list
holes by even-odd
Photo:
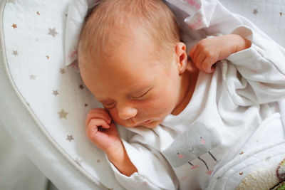
[[138, 173], [125, 176], [109, 162], [126, 189], [234, 189], [252, 169], [285, 157], [274, 102], [285, 98], [285, 50], [245, 26], [232, 33], [252, 46], [219, 61], [213, 74], [200, 71], [185, 110], [153, 130], [130, 129], [123, 144]]

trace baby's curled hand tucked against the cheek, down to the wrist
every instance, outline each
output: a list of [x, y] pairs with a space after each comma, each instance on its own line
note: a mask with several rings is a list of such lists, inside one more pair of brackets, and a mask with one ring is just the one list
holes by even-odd
[[86, 136], [104, 152], [111, 152], [121, 143], [118, 130], [103, 108], [90, 110], [86, 117]]

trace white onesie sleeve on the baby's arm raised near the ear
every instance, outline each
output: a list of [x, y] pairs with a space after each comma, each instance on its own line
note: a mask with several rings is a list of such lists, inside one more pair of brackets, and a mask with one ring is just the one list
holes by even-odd
[[[285, 50], [271, 38], [247, 26], [232, 33], [252, 41], [252, 46], [222, 60], [224, 83], [237, 105], [274, 102], [285, 98]], [[231, 64], [232, 63], [232, 64]]]

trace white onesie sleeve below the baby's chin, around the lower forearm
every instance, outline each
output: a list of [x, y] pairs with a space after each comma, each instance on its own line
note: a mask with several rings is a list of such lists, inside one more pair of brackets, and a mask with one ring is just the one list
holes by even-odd
[[138, 142], [128, 143], [123, 140], [125, 149], [130, 157], [131, 162], [138, 169], [131, 176], [125, 176], [110, 162], [115, 179], [125, 187], [125, 189], [177, 189], [178, 181], [174, 171], [165, 158], [155, 149], [146, 147]]

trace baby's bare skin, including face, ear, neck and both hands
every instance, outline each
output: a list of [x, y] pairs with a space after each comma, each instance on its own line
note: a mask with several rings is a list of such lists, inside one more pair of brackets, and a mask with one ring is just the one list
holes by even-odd
[[[134, 38], [133, 38], [134, 39]], [[251, 41], [236, 34], [204, 38], [189, 53], [177, 43], [170, 63], [153, 55], [155, 47], [144, 35], [123, 43], [120, 51], [106, 56], [96, 68], [81, 68], [88, 89], [104, 108], [90, 110], [86, 135], [126, 176], [138, 170], [130, 161], [115, 123], [125, 127], [154, 128], [169, 114], [178, 115], [192, 97], [198, 70], [214, 72], [214, 64], [251, 46]], [[92, 75], [92, 73], [97, 73]]]

